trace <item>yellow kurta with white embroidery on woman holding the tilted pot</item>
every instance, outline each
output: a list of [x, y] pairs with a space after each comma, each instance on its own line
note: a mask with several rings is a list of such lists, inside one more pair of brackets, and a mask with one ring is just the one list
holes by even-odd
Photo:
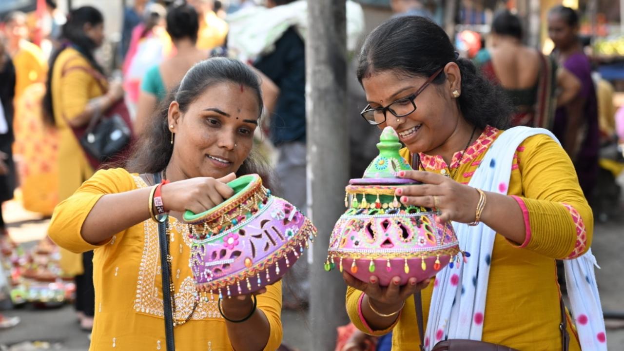
[[[156, 222], [145, 220], [102, 245], [90, 245], [80, 235], [84, 220], [102, 195], [146, 186], [139, 175], [124, 169], [98, 171], [54, 211], [49, 229], [54, 242], [74, 252], [94, 250], [95, 324], [90, 350], [165, 350]], [[177, 305], [174, 317], [183, 320], [195, 302], [195, 283], [188, 265], [192, 242], [187, 225], [172, 217], [170, 225]], [[266, 294], [258, 295], [258, 309], [265, 313], [271, 327], [265, 350], [276, 350], [282, 337], [281, 282], [268, 286]], [[216, 297], [200, 302], [192, 319], [175, 327], [174, 332], [178, 350], [232, 350]]]

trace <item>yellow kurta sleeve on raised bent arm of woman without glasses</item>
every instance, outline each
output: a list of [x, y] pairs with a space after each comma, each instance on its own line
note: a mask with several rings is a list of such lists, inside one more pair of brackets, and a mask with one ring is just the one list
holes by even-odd
[[[100, 245], [86, 242], [80, 234], [82, 224], [100, 197], [134, 189], [136, 185], [132, 175], [125, 169], [97, 171], [76, 190], [74, 195], [56, 206], [47, 234], [57, 245], [76, 253], [97, 249], [107, 244], [108, 240]], [[116, 234], [117, 239], [120, 239], [120, 235], [123, 235], [123, 232]]]

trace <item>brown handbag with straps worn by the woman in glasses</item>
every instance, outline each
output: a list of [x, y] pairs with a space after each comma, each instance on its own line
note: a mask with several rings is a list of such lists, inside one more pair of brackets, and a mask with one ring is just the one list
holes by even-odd
[[[570, 336], [568, 335], [565, 308], [563, 307], [563, 299], [559, 299], [561, 306], [561, 323], [559, 329], [561, 330], [561, 347], [562, 351], [568, 351], [568, 345], [570, 344]], [[416, 306], [416, 324], [418, 327], [418, 334], [421, 337], [421, 351], [425, 351], [422, 346], [422, 340], [424, 340], [424, 330], [422, 330], [422, 299], [421, 292], [414, 294], [414, 305]], [[467, 340], [467, 339], [450, 339], [443, 340], [437, 343], [431, 351], [519, 351], [512, 349], [511, 347], [499, 344], [492, 344], [489, 342]]]

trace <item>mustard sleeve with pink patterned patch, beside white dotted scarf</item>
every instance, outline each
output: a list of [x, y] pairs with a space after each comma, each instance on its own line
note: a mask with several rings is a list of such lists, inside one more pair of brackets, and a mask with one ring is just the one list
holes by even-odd
[[573, 259], [587, 252], [593, 214], [570, 157], [545, 135], [527, 139], [518, 155], [524, 195], [514, 199], [527, 231], [519, 247], [553, 259]]

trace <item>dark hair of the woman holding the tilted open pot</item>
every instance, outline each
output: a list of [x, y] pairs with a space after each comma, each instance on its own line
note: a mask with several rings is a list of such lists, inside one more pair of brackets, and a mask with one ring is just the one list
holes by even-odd
[[[180, 84], [169, 92], [167, 99], [160, 102], [154, 116], [147, 122], [144, 133], [134, 146], [132, 156], [125, 165], [128, 171], [142, 173], [160, 172], [169, 163], [173, 154], [167, 116], [169, 105], [177, 101], [182, 113], [207, 89], [223, 82], [233, 82], [249, 87], [258, 99], [260, 114], [264, 108], [260, 78], [240, 61], [225, 57], [213, 57], [193, 66], [182, 78]], [[260, 118], [260, 115], [258, 116]], [[252, 149], [249, 156], [236, 172], [236, 176], [257, 173], [266, 187], [273, 189], [273, 171], [263, 157]]]

